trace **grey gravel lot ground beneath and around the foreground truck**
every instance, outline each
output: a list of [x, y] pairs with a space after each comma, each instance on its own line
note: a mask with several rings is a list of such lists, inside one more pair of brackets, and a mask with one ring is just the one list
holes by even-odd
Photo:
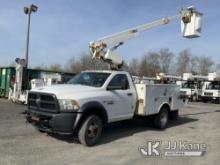
[[[149, 122], [128, 120], [104, 129], [101, 142], [85, 147], [71, 137], [50, 136], [25, 122], [25, 106], [0, 100], [0, 165], [105, 165], [105, 164], [219, 164], [220, 105], [190, 103], [178, 121], [163, 131]], [[167, 142], [205, 143], [202, 157], [146, 157], [138, 148], [158, 139], [161, 150]]]

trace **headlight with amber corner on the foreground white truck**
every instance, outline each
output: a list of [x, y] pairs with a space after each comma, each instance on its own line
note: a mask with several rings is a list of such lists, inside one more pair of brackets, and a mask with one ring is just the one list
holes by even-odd
[[76, 111], [79, 109], [79, 103], [76, 100], [60, 99], [59, 105], [62, 111]]

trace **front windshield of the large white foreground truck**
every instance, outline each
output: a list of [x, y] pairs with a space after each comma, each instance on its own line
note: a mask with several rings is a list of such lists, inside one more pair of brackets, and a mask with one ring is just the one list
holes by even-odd
[[83, 72], [73, 77], [67, 83], [101, 87], [105, 83], [109, 75], [110, 73]]

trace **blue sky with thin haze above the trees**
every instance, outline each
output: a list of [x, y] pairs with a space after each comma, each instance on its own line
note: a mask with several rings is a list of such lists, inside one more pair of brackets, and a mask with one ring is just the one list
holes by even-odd
[[88, 53], [88, 43], [127, 28], [176, 15], [194, 5], [204, 14], [202, 37], [181, 37], [180, 21], [141, 33], [118, 51], [127, 61], [148, 51], [189, 49], [197, 56], [220, 60], [219, 0], [0, 0], [0, 65], [24, 58], [27, 15], [24, 6], [38, 6], [31, 15], [29, 65], [60, 64]]

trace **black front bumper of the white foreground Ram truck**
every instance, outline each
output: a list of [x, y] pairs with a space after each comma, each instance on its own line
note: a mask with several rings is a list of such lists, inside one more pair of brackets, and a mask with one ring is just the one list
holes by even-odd
[[26, 119], [39, 130], [56, 134], [74, 134], [81, 113], [61, 112], [48, 113], [42, 111], [27, 110]]

